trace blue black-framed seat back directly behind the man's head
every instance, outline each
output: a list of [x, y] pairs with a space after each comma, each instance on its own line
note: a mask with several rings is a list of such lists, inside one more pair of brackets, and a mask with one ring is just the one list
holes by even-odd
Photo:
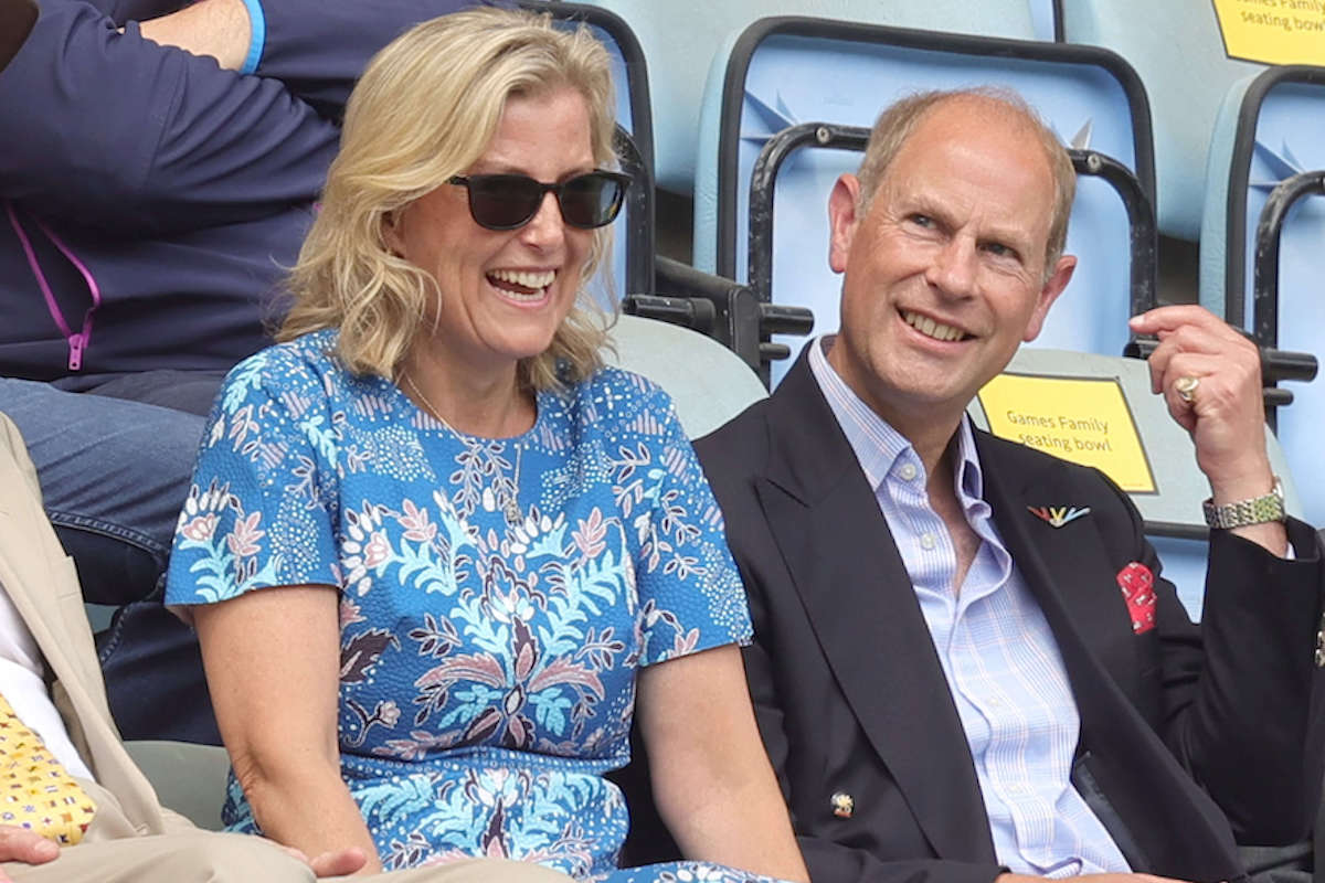
[[[701, 173], [697, 183], [700, 269], [749, 282], [774, 303], [807, 306], [818, 330], [832, 331], [840, 281], [827, 263], [827, 201], [836, 177], [860, 160], [859, 147], [837, 143], [832, 132], [868, 127], [884, 105], [920, 89], [1004, 86], [1026, 95], [1065, 143], [1116, 159], [1140, 183], [1134, 203], [1145, 205], [1129, 208], [1102, 177], [1081, 179], [1068, 240], [1080, 266], [1037, 342], [1121, 352], [1132, 314], [1129, 214], [1149, 218], [1153, 167], [1145, 91], [1117, 56], [1085, 46], [779, 17], [751, 25], [726, 69], [721, 98], [710, 97], [706, 105], [717, 122], [706, 118], [700, 144], [701, 156], [716, 160], [712, 175]], [[844, 91], [843, 82], [852, 87]], [[804, 136], [783, 146], [784, 132]], [[753, 188], [772, 188], [771, 207], [759, 199], [753, 204]], [[771, 225], [768, 238], [758, 234], [765, 222]], [[771, 256], [771, 282], [751, 271], [757, 254]]]

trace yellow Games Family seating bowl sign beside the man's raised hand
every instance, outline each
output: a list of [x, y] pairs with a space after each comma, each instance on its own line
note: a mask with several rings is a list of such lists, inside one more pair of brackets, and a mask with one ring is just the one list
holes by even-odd
[[1150, 462], [1117, 380], [999, 375], [979, 392], [990, 432], [1094, 466], [1125, 491], [1153, 494]]

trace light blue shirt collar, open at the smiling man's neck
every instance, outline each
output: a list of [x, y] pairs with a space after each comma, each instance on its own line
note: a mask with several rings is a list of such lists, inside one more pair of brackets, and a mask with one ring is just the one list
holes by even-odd
[[[831, 347], [833, 338], [835, 335], [824, 335], [810, 342], [810, 371], [847, 436], [869, 487], [877, 492], [884, 479], [904, 463], [912, 463], [924, 478], [925, 466], [906, 437], [867, 405], [828, 363], [824, 347]], [[958, 496], [962, 508], [969, 510], [984, 496], [984, 474], [975, 450], [971, 421], [966, 414], [962, 414], [957, 426], [955, 441]]]

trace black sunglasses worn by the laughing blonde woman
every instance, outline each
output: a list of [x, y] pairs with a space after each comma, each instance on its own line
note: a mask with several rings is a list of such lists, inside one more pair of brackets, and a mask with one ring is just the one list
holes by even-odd
[[594, 171], [560, 184], [543, 184], [527, 175], [456, 175], [447, 183], [469, 189], [469, 214], [489, 230], [525, 226], [538, 214], [547, 193], [556, 195], [563, 221], [591, 230], [616, 220], [631, 176]]

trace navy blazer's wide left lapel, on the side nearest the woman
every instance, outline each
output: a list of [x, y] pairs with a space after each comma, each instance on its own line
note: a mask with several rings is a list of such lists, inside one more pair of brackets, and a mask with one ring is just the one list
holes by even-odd
[[916, 592], [804, 357], [768, 420], [772, 453], [755, 490], [847, 703], [935, 854], [994, 862], [970, 748]]

